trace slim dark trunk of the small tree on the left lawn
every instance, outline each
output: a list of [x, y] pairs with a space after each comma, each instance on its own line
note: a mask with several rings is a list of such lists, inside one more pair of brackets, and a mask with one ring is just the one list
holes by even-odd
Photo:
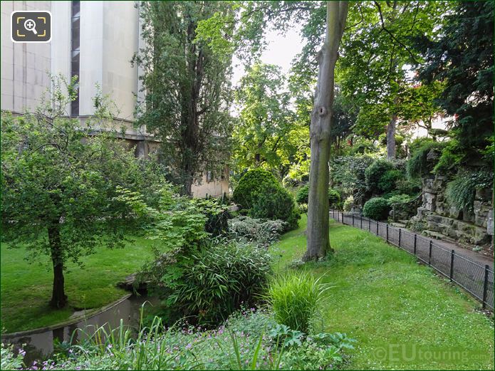
[[50, 305], [53, 308], [63, 308], [67, 304], [67, 296], [64, 290], [63, 256], [60, 240], [59, 220], [54, 221], [48, 227], [48, 241], [50, 243], [51, 261], [53, 263], [53, 290]]

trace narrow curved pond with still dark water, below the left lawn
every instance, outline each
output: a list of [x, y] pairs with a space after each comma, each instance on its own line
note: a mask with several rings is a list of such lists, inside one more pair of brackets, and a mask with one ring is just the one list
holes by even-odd
[[[136, 296], [127, 294], [120, 300], [107, 305], [93, 314], [83, 316], [72, 322], [66, 322], [59, 326], [23, 331], [1, 335], [1, 343], [14, 344], [16, 349], [23, 348], [26, 351], [24, 363], [32, 365], [34, 360], [46, 359], [53, 354], [55, 342], [73, 343], [83, 340], [94, 334], [95, 329], [105, 325], [106, 328], [118, 328], [120, 320], [125, 326], [139, 328], [140, 309], [142, 305], [157, 305], [160, 303], [156, 297]], [[78, 331], [76, 331], [78, 330]]]

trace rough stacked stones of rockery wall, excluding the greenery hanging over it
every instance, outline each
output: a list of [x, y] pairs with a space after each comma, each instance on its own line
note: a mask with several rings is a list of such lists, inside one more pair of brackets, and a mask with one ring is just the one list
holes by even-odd
[[422, 179], [422, 205], [414, 220], [426, 224], [424, 234], [473, 245], [487, 245], [494, 233], [491, 189], [476, 189], [472, 211], [447, 204], [448, 179], [441, 175]]

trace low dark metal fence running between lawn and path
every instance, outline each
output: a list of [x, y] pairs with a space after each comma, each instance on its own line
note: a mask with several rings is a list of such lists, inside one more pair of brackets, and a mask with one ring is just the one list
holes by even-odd
[[340, 223], [370, 231], [389, 244], [400, 247], [471, 293], [481, 301], [483, 308], [494, 309], [494, 270], [490, 266], [482, 266], [454, 250], [438, 246], [432, 239], [387, 223], [337, 210], [330, 210], [330, 217]]

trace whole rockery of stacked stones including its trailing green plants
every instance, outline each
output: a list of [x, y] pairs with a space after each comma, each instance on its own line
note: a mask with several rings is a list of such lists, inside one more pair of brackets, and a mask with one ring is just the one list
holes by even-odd
[[[440, 156], [435, 148], [427, 150], [427, 167], [437, 166]], [[493, 173], [479, 165], [462, 167], [457, 174], [440, 169], [424, 172], [420, 207], [407, 226], [434, 238], [490, 244], [494, 234]]]

